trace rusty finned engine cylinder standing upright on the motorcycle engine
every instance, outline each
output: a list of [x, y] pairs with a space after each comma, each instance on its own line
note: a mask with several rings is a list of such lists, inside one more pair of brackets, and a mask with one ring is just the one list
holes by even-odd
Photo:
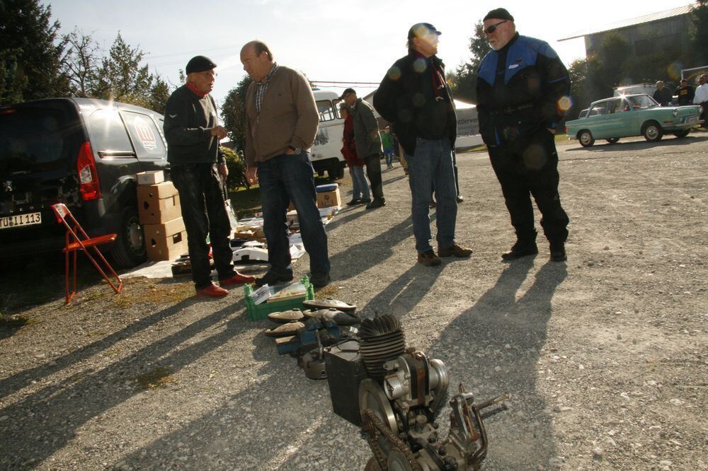
[[406, 337], [401, 323], [393, 315], [379, 315], [362, 320], [359, 327], [360, 352], [369, 378], [383, 380], [384, 364], [406, 351]]

